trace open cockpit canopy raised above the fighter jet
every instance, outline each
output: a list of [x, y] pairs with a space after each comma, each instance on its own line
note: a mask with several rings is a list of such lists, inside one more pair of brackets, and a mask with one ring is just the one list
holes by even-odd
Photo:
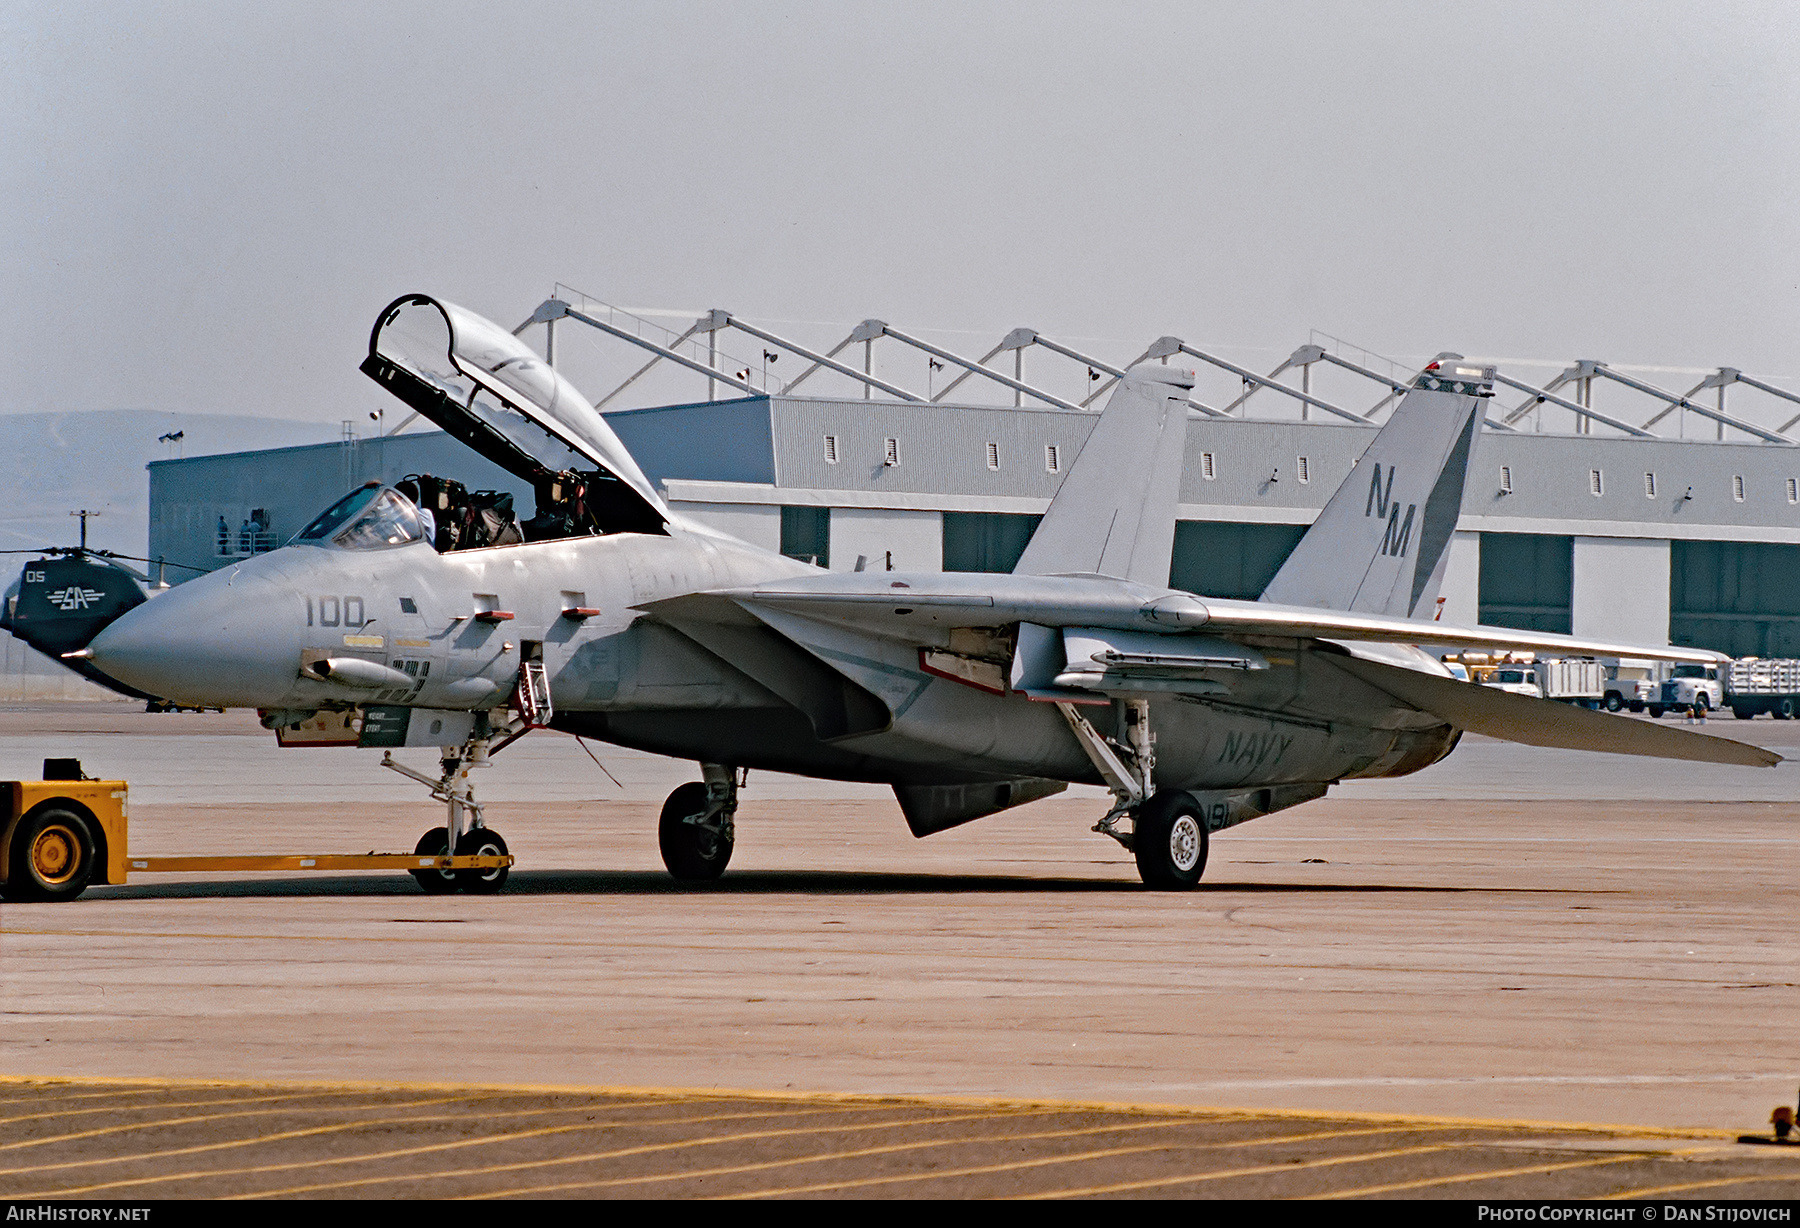
[[580, 490], [603, 533], [662, 533], [668, 508], [607, 420], [493, 321], [430, 299], [394, 299], [369, 333], [364, 375], [495, 465], [529, 481], [540, 515]]

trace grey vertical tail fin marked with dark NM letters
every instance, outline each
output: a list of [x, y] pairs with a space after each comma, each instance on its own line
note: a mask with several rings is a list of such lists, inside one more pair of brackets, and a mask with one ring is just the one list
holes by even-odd
[[1444, 355], [1420, 371], [1262, 600], [1429, 616], [1492, 394], [1494, 367]]

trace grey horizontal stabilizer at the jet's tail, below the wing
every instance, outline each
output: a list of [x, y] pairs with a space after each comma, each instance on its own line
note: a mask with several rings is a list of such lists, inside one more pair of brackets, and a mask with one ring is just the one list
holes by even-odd
[[1550, 699], [1508, 695], [1490, 686], [1418, 673], [1377, 661], [1332, 657], [1332, 664], [1458, 729], [1505, 742], [1742, 767], [1775, 767], [1782, 762], [1780, 754], [1748, 742], [1714, 738], [1690, 729], [1615, 717]]

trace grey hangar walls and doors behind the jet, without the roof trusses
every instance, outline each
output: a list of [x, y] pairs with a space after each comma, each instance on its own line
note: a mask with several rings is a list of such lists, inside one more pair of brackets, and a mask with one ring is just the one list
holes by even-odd
[[[832, 569], [1008, 571], [1093, 429], [1080, 409], [787, 393], [610, 412], [677, 511]], [[1172, 583], [1251, 598], [1372, 425], [1190, 421]], [[151, 558], [274, 549], [347, 488], [531, 492], [441, 432], [155, 461]], [[171, 569], [169, 580], [182, 574]], [[1444, 618], [1800, 655], [1800, 448], [1487, 430]]]

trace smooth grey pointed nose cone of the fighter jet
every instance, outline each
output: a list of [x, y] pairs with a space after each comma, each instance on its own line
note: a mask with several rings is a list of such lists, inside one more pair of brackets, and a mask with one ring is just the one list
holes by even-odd
[[194, 708], [268, 708], [293, 690], [299, 628], [292, 592], [250, 565], [169, 589], [88, 645], [103, 673]]

